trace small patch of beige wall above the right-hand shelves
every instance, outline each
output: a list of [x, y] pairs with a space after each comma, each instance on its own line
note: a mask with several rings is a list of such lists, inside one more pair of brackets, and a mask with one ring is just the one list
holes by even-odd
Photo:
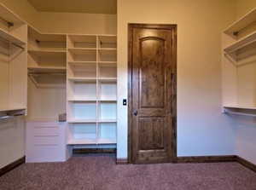
[[239, 19], [250, 10], [256, 8], [255, 0], [236, 0], [236, 18]]

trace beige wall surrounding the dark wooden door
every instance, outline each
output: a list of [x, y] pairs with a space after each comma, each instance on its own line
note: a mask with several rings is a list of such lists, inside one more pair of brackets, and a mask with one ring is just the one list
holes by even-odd
[[127, 157], [127, 25], [177, 24], [177, 155], [233, 154], [221, 112], [221, 33], [236, 17], [232, 0], [118, 0], [118, 158]]

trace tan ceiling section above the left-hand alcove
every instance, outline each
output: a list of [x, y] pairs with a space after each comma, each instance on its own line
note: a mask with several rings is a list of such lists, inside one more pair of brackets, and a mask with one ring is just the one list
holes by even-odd
[[116, 14], [117, 0], [28, 0], [38, 11]]

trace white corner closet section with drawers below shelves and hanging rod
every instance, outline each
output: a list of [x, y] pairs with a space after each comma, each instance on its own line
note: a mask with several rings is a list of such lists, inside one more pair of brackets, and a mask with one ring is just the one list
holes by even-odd
[[28, 28], [26, 162], [60, 162], [66, 144], [67, 35]]

